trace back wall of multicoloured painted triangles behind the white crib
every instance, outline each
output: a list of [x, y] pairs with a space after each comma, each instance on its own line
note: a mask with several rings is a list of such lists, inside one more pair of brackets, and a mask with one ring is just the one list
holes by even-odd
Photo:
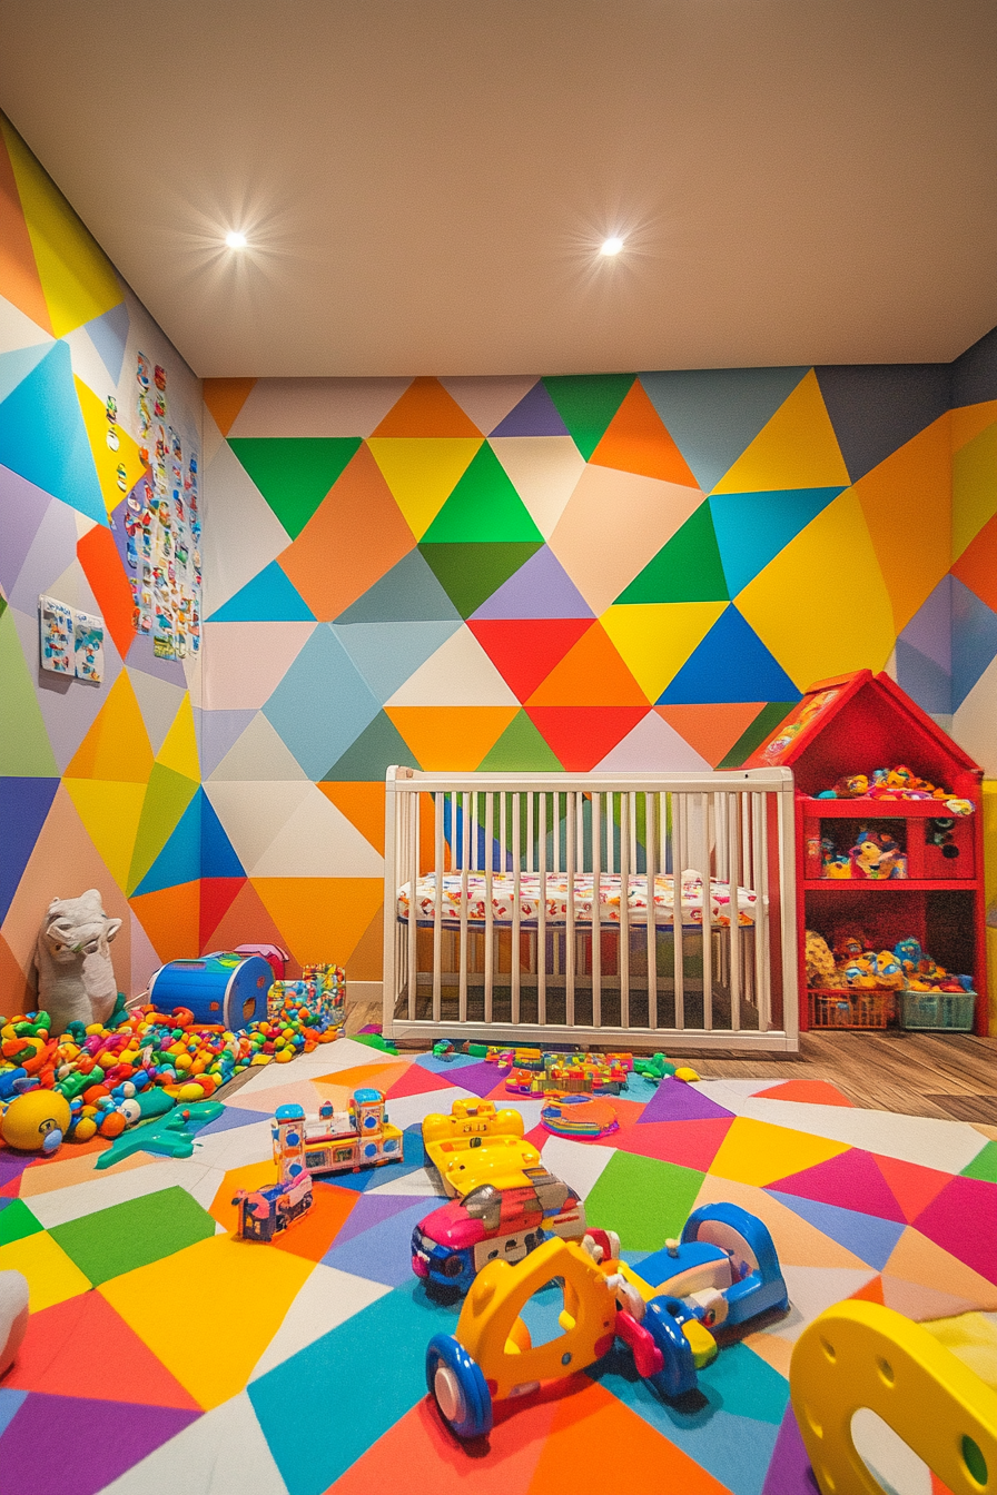
[[390, 762], [737, 762], [864, 665], [957, 734], [984, 719], [996, 351], [208, 380], [203, 788], [239, 863], [209, 942], [256, 921], [377, 979]]

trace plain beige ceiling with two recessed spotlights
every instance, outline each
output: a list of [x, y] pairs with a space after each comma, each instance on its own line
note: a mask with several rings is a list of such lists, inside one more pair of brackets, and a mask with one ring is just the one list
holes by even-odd
[[934, 362], [997, 323], [993, 0], [0, 0], [0, 106], [202, 375]]

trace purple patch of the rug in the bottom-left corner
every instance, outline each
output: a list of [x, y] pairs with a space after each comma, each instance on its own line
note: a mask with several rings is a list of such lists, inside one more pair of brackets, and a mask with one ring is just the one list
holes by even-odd
[[[91, 1401], [30, 1392], [7, 1423], [0, 1447], [4, 1491], [31, 1495], [96, 1495], [133, 1464], [175, 1438], [199, 1411]], [[52, 1437], [58, 1428], [58, 1438]], [[85, 1449], [67, 1476], [66, 1450]]]

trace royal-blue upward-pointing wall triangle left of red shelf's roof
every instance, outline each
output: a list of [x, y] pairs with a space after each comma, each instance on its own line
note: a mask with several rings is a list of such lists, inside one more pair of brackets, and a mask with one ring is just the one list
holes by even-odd
[[655, 704], [798, 700], [800, 691], [783, 667], [731, 604]]

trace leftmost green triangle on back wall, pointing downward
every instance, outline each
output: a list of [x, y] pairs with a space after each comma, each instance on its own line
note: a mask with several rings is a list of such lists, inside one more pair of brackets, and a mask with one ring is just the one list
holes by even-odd
[[360, 450], [360, 437], [233, 437], [229, 446], [296, 540]]

